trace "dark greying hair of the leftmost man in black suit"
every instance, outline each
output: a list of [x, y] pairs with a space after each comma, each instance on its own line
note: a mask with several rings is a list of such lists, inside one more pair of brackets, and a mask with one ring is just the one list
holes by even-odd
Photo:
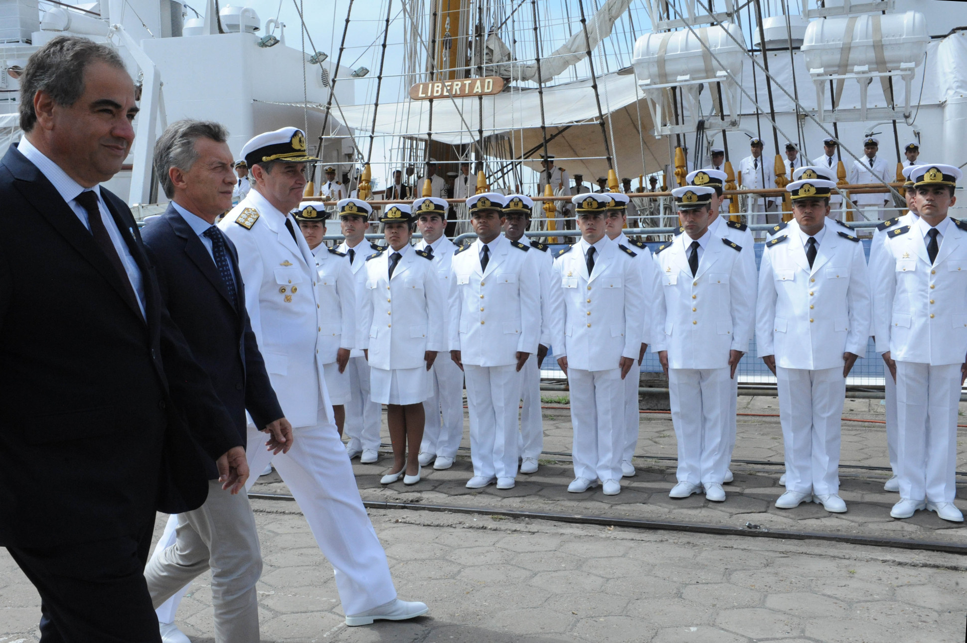
[[34, 97], [38, 91], [50, 95], [54, 103], [70, 107], [84, 93], [84, 70], [94, 62], [102, 62], [125, 70], [117, 51], [76, 36], [57, 36], [27, 60], [20, 76], [20, 129], [30, 132], [37, 123]]

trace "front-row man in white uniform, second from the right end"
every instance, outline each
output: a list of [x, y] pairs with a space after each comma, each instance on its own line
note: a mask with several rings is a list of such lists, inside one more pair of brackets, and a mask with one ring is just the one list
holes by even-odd
[[827, 220], [833, 181], [786, 186], [795, 222], [766, 243], [759, 271], [757, 348], [777, 378], [786, 492], [779, 509], [803, 502], [846, 511], [839, 497], [840, 418], [846, 376], [866, 350], [872, 311], [859, 238]]

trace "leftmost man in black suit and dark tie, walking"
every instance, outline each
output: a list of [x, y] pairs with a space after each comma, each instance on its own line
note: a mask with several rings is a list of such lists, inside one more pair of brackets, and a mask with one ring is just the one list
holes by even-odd
[[[20, 77], [0, 161], [0, 545], [42, 599], [44, 643], [156, 643], [156, 511], [242, 488], [245, 450], [161, 303], [131, 211], [99, 184], [137, 111], [117, 52], [57, 37]], [[222, 492], [222, 491], [220, 491]]]

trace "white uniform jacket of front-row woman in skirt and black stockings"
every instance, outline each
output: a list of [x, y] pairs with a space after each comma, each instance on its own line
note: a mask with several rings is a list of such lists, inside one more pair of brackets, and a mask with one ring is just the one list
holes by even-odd
[[[393, 248], [366, 259], [366, 286], [360, 302], [360, 324], [369, 329], [362, 348], [369, 365], [384, 370], [425, 366], [426, 351], [446, 348], [446, 300], [433, 262], [423, 250], [400, 248], [402, 256], [390, 278]], [[396, 339], [396, 340], [394, 340]]]

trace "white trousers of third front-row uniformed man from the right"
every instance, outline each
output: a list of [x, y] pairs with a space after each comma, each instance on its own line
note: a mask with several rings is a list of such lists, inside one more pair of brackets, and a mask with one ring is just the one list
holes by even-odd
[[668, 392], [678, 440], [678, 482], [721, 484], [732, 459], [725, 417], [734, 395], [729, 367], [669, 368]]

